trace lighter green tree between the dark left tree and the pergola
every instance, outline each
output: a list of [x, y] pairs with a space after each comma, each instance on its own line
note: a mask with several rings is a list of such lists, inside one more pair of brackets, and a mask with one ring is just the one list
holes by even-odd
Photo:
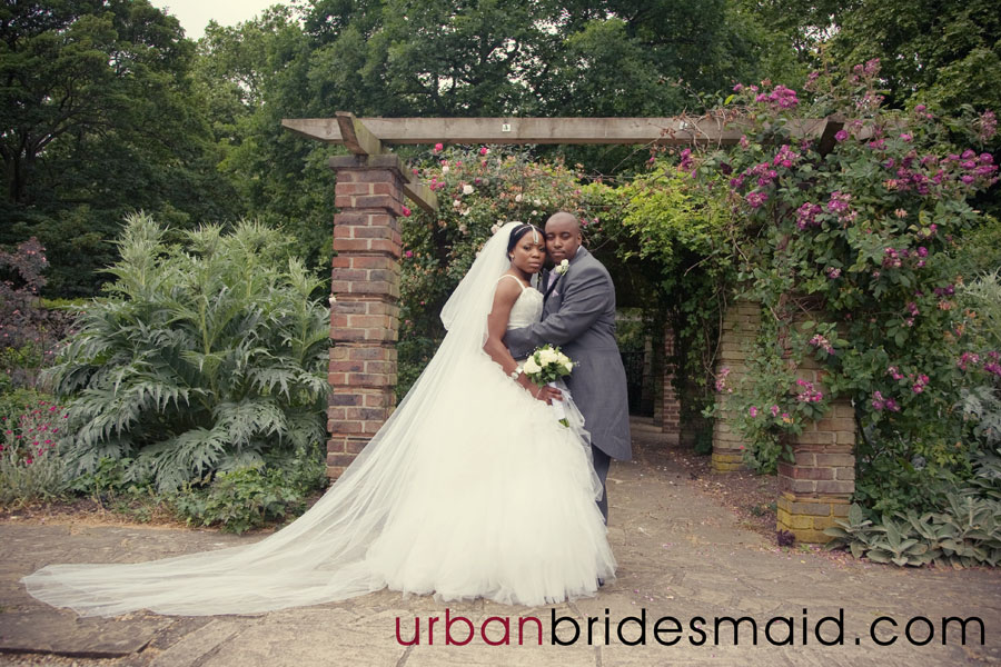
[[334, 220], [327, 158], [345, 151], [293, 135], [281, 119], [355, 109], [313, 99], [311, 59], [294, 10], [274, 6], [234, 27], [209, 23], [194, 78], [208, 102], [216, 168], [235, 189], [238, 210], [295, 237], [297, 256], [326, 281]]

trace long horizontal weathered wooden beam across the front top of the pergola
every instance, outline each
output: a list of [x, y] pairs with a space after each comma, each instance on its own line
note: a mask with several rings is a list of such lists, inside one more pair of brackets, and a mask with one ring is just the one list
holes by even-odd
[[[402, 143], [625, 143], [735, 145], [741, 130], [703, 118], [358, 118], [383, 145]], [[825, 119], [792, 123], [793, 133], [816, 137]], [[340, 118], [286, 118], [283, 127], [328, 143], [346, 143]], [[355, 125], [357, 128], [357, 125]], [[356, 130], [357, 135], [357, 130]], [[348, 138], [348, 140], [353, 140]]]

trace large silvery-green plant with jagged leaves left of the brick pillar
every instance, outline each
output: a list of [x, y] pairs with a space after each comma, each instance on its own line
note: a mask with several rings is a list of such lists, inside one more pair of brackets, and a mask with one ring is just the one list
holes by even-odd
[[329, 315], [287, 240], [252, 222], [163, 237], [128, 219], [109, 296], [51, 369], [75, 467], [132, 459], [129, 480], [162, 491], [323, 440]]

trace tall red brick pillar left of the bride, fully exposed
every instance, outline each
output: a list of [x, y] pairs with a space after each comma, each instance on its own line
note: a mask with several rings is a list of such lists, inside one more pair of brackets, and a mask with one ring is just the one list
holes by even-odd
[[395, 405], [399, 330], [397, 217], [403, 173], [396, 156], [330, 158], [337, 172], [330, 292], [327, 476], [339, 477]]

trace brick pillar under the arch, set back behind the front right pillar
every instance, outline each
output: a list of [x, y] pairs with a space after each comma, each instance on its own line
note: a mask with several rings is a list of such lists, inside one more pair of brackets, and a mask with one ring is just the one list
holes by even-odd
[[[747, 358], [746, 348], [753, 342], [760, 326], [761, 307], [753, 301], [734, 301], [723, 313], [716, 377], [726, 372], [725, 384], [731, 389], [736, 390], [741, 382], [753, 380], [747, 376], [744, 359]], [[726, 389], [716, 392], [718, 411], [713, 422], [713, 470], [716, 472], [747, 469], [742, 454], [743, 441], [731, 424], [732, 411], [727, 408], [730, 400], [731, 395]]]

